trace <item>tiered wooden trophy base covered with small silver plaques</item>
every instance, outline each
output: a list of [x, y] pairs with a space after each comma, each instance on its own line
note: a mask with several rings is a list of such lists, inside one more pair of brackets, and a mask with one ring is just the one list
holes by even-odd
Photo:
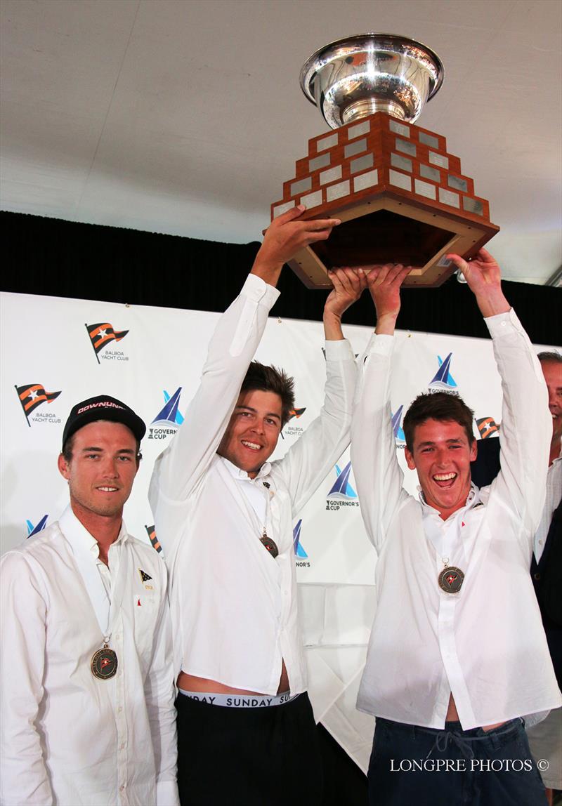
[[310, 289], [331, 288], [330, 268], [384, 263], [413, 267], [406, 286], [435, 287], [454, 271], [447, 252], [472, 257], [499, 230], [445, 138], [384, 112], [309, 141], [272, 220], [297, 204], [342, 221], [289, 262]]

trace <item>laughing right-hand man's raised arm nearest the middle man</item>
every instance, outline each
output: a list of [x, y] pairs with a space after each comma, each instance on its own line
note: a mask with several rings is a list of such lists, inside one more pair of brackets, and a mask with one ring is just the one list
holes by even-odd
[[367, 275], [377, 327], [360, 360], [352, 421], [352, 466], [369, 539], [381, 549], [389, 523], [406, 492], [398, 466], [390, 411], [393, 334], [400, 287], [410, 267], [376, 266]]

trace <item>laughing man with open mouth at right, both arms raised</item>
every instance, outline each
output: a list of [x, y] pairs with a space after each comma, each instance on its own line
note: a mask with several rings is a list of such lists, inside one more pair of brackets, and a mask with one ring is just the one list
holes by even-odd
[[522, 727], [560, 705], [528, 568], [544, 496], [548, 418], [543, 373], [481, 250], [462, 270], [493, 340], [502, 377], [502, 472], [471, 482], [472, 412], [422, 395], [404, 418], [402, 488], [389, 377], [400, 286], [410, 268], [376, 267], [368, 287], [377, 329], [361, 364], [352, 462], [377, 552], [377, 612], [357, 707], [377, 717], [368, 770], [377, 806], [545, 803]]

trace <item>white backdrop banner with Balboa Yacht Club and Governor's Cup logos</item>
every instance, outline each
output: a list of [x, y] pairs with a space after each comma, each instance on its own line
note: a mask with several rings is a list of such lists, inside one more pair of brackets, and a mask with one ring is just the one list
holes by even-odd
[[[219, 314], [12, 293], [0, 295], [0, 314], [2, 552], [65, 508], [66, 483], [56, 469], [63, 426], [75, 403], [101, 393], [125, 401], [148, 426], [125, 520], [131, 534], [157, 547], [147, 499], [152, 464], [198, 387]], [[345, 334], [360, 354], [371, 330], [348, 326]], [[322, 405], [322, 324], [270, 318], [256, 358], [295, 379], [293, 418], [273, 458], [281, 457]], [[398, 331], [393, 362], [393, 429], [406, 488], [415, 492], [416, 478], [403, 459], [402, 417], [410, 401], [431, 389], [458, 393], [474, 410], [474, 434], [493, 438], [500, 381], [485, 339]], [[314, 712], [366, 769], [373, 721], [354, 712], [353, 703], [373, 617], [376, 556], [364, 533], [349, 451], [293, 527]]]

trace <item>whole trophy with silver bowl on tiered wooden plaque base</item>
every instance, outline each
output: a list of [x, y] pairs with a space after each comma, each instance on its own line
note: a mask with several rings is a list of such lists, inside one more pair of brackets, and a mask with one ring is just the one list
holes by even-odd
[[468, 259], [499, 230], [445, 138], [414, 126], [443, 78], [430, 48], [393, 34], [339, 39], [306, 60], [302, 90], [335, 131], [309, 140], [271, 218], [302, 204], [302, 218], [341, 219], [289, 261], [308, 288], [331, 288], [330, 268], [380, 263], [435, 287], [455, 271], [448, 252]]

